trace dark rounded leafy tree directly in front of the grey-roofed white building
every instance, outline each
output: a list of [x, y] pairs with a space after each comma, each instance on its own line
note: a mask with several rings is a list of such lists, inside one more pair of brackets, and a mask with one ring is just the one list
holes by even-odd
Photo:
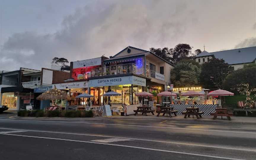
[[223, 81], [232, 69], [223, 59], [212, 58], [203, 63], [200, 74], [201, 85], [209, 89], [223, 88]]

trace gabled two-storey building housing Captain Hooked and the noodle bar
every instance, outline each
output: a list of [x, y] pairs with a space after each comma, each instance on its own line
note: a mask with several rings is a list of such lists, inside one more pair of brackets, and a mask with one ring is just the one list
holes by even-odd
[[72, 81], [53, 86], [69, 90], [74, 99], [71, 105], [87, 103], [84, 99], [75, 100], [82, 93], [94, 96], [92, 105], [102, 105], [107, 102], [102, 95], [110, 90], [121, 94], [113, 97], [113, 104], [135, 104], [136, 93], [166, 90], [173, 66], [154, 53], [128, 46], [110, 58], [71, 62], [71, 68]]

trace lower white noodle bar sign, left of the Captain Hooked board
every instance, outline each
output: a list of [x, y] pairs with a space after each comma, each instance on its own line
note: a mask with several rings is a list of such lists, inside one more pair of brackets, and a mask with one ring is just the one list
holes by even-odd
[[54, 86], [56, 86], [56, 88], [60, 90], [74, 89], [74, 88], [88, 88], [88, 81], [52, 84], [52, 88], [54, 88]]

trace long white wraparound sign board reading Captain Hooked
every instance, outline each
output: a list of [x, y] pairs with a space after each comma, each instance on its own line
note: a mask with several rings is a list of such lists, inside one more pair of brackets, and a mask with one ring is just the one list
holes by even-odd
[[89, 80], [89, 87], [116, 86], [116, 85], [124, 85], [124, 84], [146, 86], [146, 79], [140, 78], [137, 76], [122, 76], [122, 77]]

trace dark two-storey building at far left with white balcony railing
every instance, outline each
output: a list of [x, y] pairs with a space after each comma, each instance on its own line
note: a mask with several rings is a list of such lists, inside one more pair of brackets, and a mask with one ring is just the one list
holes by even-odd
[[[54, 78], [56, 77], [56, 78]], [[49, 101], [38, 101], [41, 93], [52, 88], [54, 79], [58, 82], [69, 77], [69, 73], [47, 68], [40, 70], [20, 68], [17, 71], [1, 73], [1, 105], [7, 105], [9, 110], [26, 109], [27, 105], [34, 109], [49, 106]]]

